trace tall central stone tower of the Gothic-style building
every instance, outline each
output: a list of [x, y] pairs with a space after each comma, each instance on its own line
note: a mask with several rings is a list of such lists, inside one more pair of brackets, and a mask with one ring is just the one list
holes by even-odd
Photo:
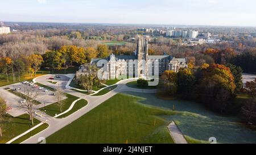
[[139, 78], [147, 77], [147, 60], [148, 60], [148, 40], [149, 36], [138, 37], [137, 40], [137, 59], [138, 59], [138, 76]]

